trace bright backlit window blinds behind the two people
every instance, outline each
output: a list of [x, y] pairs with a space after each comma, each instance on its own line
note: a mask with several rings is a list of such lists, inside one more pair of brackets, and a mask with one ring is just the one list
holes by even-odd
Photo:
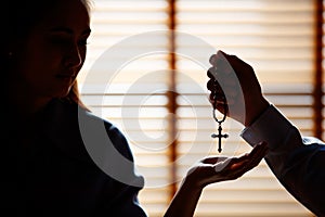
[[[150, 216], [162, 216], [193, 163], [218, 154], [206, 90], [208, 60], [218, 49], [251, 64], [268, 99], [303, 135], [313, 135], [313, 0], [93, 2], [93, 33], [78, 78], [82, 100], [125, 132], [145, 178], [140, 202]], [[250, 150], [242, 129], [226, 119], [222, 155]], [[195, 216], [313, 215], [262, 162], [238, 180], [206, 188]]]

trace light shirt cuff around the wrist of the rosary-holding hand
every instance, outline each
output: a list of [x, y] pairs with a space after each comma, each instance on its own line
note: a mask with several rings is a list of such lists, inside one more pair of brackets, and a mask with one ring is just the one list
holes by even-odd
[[261, 116], [240, 137], [251, 146], [259, 142], [268, 142], [270, 150], [276, 149], [292, 129], [292, 124], [274, 106], [270, 105]]

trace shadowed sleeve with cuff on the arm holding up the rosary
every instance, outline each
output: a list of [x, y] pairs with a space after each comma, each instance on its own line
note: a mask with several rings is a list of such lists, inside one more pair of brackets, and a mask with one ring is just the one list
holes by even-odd
[[240, 135], [250, 145], [268, 142], [265, 162], [280, 182], [301, 204], [325, 216], [325, 144], [302, 137], [275, 106], [270, 105]]

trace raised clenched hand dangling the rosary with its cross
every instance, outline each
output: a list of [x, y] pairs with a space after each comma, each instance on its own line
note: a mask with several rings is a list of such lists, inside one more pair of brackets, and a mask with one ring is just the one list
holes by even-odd
[[211, 55], [210, 64], [207, 88], [211, 91], [212, 106], [224, 113], [226, 103], [227, 116], [249, 126], [270, 105], [253, 68], [236, 55], [222, 51]]

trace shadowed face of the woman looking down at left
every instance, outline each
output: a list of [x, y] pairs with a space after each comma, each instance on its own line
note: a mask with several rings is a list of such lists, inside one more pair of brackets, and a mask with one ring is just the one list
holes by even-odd
[[26, 90], [39, 98], [67, 95], [86, 58], [90, 17], [80, 0], [58, 5], [27, 38], [18, 56], [18, 74]]

